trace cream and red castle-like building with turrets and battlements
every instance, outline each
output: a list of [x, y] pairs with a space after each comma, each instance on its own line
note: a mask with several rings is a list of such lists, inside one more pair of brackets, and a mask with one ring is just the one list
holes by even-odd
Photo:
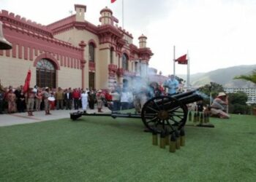
[[86, 20], [86, 6], [75, 4], [75, 15], [40, 25], [1, 10], [4, 37], [12, 50], [0, 50], [0, 79], [4, 86], [24, 83], [31, 69], [31, 85], [110, 89], [148, 74], [153, 55], [146, 36], [133, 44], [132, 34], [114, 25], [118, 19], [105, 7], [100, 25]]

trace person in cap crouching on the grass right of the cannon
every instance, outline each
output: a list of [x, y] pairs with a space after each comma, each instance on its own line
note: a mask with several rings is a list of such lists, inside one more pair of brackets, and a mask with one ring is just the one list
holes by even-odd
[[227, 114], [228, 96], [225, 92], [219, 92], [217, 98], [211, 104], [211, 115], [218, 116], [222, 119], [228, 119], [230, 116]]

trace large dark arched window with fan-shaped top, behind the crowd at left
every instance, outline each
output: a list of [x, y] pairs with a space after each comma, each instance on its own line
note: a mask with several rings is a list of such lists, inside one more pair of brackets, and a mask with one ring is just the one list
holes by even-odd
[[56, 68], [50, 60], [37, 62], [37, 86], [56, 88]]

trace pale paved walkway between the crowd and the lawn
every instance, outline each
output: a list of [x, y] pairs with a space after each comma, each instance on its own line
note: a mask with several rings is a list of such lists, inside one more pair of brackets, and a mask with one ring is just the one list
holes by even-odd
[[[27, 113], [15, 113], [15, 114], [0, 114], [0, 127], [10, 126], [14, 124], [25, 124], [32, 122], [44, 122], [54, 119], [69, 118], [70, 112], [75, 112], [77, 110], [53, 110], [50, 111], [50, 115], [45, 115], [45, 111], [35, 111], [34, 116], [28, 116]], [[80, 111], [82, 111], [80, 109]], [[110, 112], [108, 108], [103, 108], [102, 111]], [[88, 113], [97, 113], [97, 109], [87, 110]]]

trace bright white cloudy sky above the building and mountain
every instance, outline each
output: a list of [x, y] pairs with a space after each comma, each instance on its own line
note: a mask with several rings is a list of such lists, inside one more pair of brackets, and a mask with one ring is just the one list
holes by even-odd
[[[48, 25], [75, 13], [74, 4], [86, 5], [94, 25], [109, 7], [122, 25], [122, 0], [1, 0], [0, 9]], [[188, 53], [190, 74], [256, 64], [255, 0], [124, 0], [124, 29], [137, 46], [142, 33], [148, 37], [149, 66], [164, 75], [173, 74], [174, 46], [175, 58]], [[187, 74], [186, 65], [175, 68]]]

